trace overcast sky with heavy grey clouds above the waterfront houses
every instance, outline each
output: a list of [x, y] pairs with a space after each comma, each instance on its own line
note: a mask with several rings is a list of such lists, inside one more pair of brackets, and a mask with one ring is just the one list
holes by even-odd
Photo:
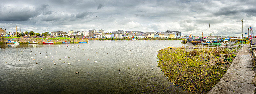
[[[140, 30], [184, 35], [241, 36], [256, 26], [255, 0], [1, 0], [6, 32]], [[256, 27], [253, 27], [256, 28]]]

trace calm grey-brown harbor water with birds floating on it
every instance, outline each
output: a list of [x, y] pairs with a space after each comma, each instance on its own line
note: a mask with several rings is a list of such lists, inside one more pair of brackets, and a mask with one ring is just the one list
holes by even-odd
[[157, 67], [157, 51], [181, 47], [180, 42], [89, 40], [82, 44], [2, 44], [0, 93], [187, 93], [169, 82]]

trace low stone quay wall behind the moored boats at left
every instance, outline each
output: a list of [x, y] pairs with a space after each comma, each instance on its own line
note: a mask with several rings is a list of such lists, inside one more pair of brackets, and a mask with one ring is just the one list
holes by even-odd
[[[15, 40], [18, 41], [20, 43], [28, 43], [28, 42], [33, 42], [36, 41], [38, 43], [43, 43], [46, 42], [46, 38], [0, 38], [0, 42], [1, 43], [5, 43], [8, 40]], [[61, 43], [61, 42], [70, 42], [70, 43], [78, 43], [78, 41], [80, 42], [88, 42], [87, 39], [73, 39], [73, 38], [48, 38], [47, 40], [51, 40], [50, 42], [54, 42], [54, 43]]]

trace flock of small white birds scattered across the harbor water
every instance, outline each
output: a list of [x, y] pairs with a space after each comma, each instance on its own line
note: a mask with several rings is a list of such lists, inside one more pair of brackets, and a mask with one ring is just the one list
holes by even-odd
[[[77, 45], [77, 46], [79, 46], [79, 45]], [[42, 46], [43, 47], [43, 46]], [[59, 47], [60, 47], [60, 45], [59, 45]], [[65, 46], [64, 46], [65, 47]], [[72, 47], [75, 47], [75, 46], [72, 46]], [[65, 47], [66, 48], [66, 47]], [[79, 48], [79, 47], [78, 47]], [[26, 49], [26, 48], [25, 48]], [[53, 48], [54, 49], [54, 48]], [[68, 48], [66, 48], [66, 49], [68, 49]], [[91, 48], [92, 49], [92, 48]], [[32, 49], [30, 49], [30, 50], [32, 50]], [[71, 49], [70, 49], [71, 50]], [[84, 50], [84, 49], [83, 49]], [[21, 52], [23, 52], [24, 50], [22, 50]], [[36, 50], [37, 51], [37, 50]], [[131, 50], [130, 50], [131, 51]], [[32, 52], [32, 51], [30, 51], [30, 52]], [[40, 51], [38, 51], [40, 54], [41, 54], [41, 52]], [[58, 51], [56, 51], [56, 53], [57, 53]], [[47, 52], [45, 52], [45, 53], [47, 53]], [[98, 52], [96, 52], [96, 53], [98, 53]], [[30, 53], [30, 55], [31, 55], [32, 53]], [[52, 54], [52, 53], [50, 53], [50, 54]], [[108, 53], [107, 53], [108, 54]], [[142, 53], [143, 54], [143, 53]], [[36, 56], [36, 54], [35, 54], [35, 56]], [[53, 56], [52, 56], [53, 57]], [[6, 57], [4, 57], [4, 58], [6, 58]], [[32, 59], [33, 59], [33, 57], [31, 57]], [[47, 54], [46, 54], [46, 56], [45, 56], [45, 58], [47, 58]], [[67, 56], [65, 56], [65, 58], [67, 58]], [[97, 57], [97, 58], [99, 58], [99, 57]], [[70, 57], [68, 57], [68, 59], [70, 59]], [[76, 59], [76, 58], [74, 58], [74, 59]], [[34, 61], [35, 59], [33, 59], [33, 61]], [[61, 60], [61, 59], [60, 59]], [[87, 60], [90, 60], [90, 59], [87, 59]], [[18, 61], [20, 61], [20, 60], [18, 60]], [[80, 60], [77, 60], [78, 62], [80, 61]], [[53, 65], [57, 65], [56, 63], [54, 63], [54, 62], [56, 62], [56, 61], [53, 61]], [[94, 61], [94, 63], [96, 63], [97, 61]], [[124, 62], [124, 61], [123, 61]], [[8, 62], [6, 62], [6, 63], [8, 63]], [[66, 63], [66, 62], [63, 62], [63, 63]], [[36, 64], [38, 64], [37, 62], [36, 62]], [[70, 65], [71, 63], [68, 63], [68, 65]], [[136, 65], [136, 66], [139, 66], [139, 65]], [[138, 67], [138, 69], [139, 69], [140, 67]], [[130, 67], [128, 67], [128, 69], [130, 69]], [[43, 67], [41, 67], [41, 70], [43, 70]], [[152, 70], [153, 70], [153, 68], [152, 68]], [[118, 71], [120, 71], [120, 69], [118, 68]], [[79, 72], [75, 72], [75, 74], [79, 74]], [[121, 73], [119, 73], [119, 74], [121, 74]]]

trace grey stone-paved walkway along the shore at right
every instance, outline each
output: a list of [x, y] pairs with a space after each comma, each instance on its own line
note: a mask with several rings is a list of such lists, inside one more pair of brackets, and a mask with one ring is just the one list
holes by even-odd
[[254, 94], [252, 82], [255, 72], [252, 70], [250, 45], [245, 45], [237, 53], [236, 58], [220, 81], [207, 94]]

